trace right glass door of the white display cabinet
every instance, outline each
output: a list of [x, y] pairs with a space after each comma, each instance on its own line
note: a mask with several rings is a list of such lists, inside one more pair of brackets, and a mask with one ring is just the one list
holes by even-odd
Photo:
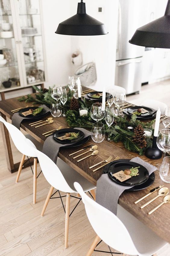
[[39, 0], [19, 0], [19, 18], [27, 84], [45, 80]]

